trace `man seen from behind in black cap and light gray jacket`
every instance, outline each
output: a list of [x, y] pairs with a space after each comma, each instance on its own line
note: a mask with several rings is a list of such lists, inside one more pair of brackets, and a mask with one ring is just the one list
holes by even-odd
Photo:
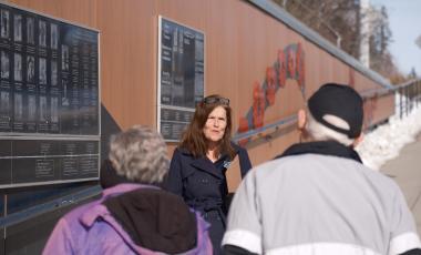
[[421, 254], [398, 185], [364, 166], [362, 99], [328, 83], [298, 113], [302, 143], [250, 171], [238, 187], [224, 254]]

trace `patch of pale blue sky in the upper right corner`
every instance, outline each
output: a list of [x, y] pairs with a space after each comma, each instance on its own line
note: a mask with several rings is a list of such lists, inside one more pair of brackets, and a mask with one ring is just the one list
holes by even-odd
[[370, 0], [374, 7], [388, 9], [393, 42], [390, 51], [403, 74], [412, 67], [421, 75], [421, 49], [415, 39], [421, 35], [421, 0]]

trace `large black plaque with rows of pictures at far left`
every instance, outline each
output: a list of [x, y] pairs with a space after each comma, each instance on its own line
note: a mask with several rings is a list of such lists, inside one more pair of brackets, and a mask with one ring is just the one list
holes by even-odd
[[0, 187], [99, 177], [97, 40], [0, 3]]

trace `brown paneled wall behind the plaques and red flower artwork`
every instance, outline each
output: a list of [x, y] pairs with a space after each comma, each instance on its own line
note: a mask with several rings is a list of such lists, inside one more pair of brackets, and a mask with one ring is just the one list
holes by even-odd
[[[100, 31], [101, 99], [122, 129], [156, 126], [158, 16], [205, 33], [205, 93], [232, 100], [234, 125], [253, 105], [254, 83], [265, 81], [266, 68], [278, 50], [300, 43], [305, 53], [306, 95], [325, 82], [353, 83], [357, 90], [378, 88], [284, 23], [243, 0], [11, 0], [53, 17]], [[265, 112], [265, 123], [295, 114], [304, 105], [297, 81], [287, 80]], [[378, 101], [373, 120], [393, 111], [391, 96]], [[292, 129], [294, 130], [294, 129]], [[297, 132], [273, 135], [250, 145], [254, 164], [279, 154], [297, 142]], [[170, 151], [174, 149], [171, 144]]]

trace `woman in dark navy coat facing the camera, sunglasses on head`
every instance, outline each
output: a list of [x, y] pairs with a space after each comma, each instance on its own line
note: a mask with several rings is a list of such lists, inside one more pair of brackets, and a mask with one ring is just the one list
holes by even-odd
[[196, 106], [193, 120], [174, 151], [166, 188], [183, 196], [210, 223], [214, 254], [220, 254], [228, 195], [225, 172], [238, 155], [242, 177], [251, 169], [247, 151], [230, 141], [229, 100], [209, 95]]

